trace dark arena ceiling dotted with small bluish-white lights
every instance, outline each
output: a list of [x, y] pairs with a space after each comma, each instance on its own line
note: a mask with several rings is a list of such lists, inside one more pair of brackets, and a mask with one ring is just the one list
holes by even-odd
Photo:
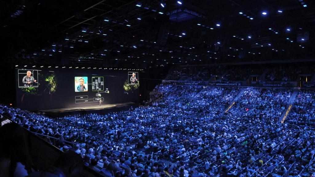
[[146, 68], [314, 58], [313, 0], [181, 2], [2, 2], [3, 49], [12, 64], [34, 66]]

